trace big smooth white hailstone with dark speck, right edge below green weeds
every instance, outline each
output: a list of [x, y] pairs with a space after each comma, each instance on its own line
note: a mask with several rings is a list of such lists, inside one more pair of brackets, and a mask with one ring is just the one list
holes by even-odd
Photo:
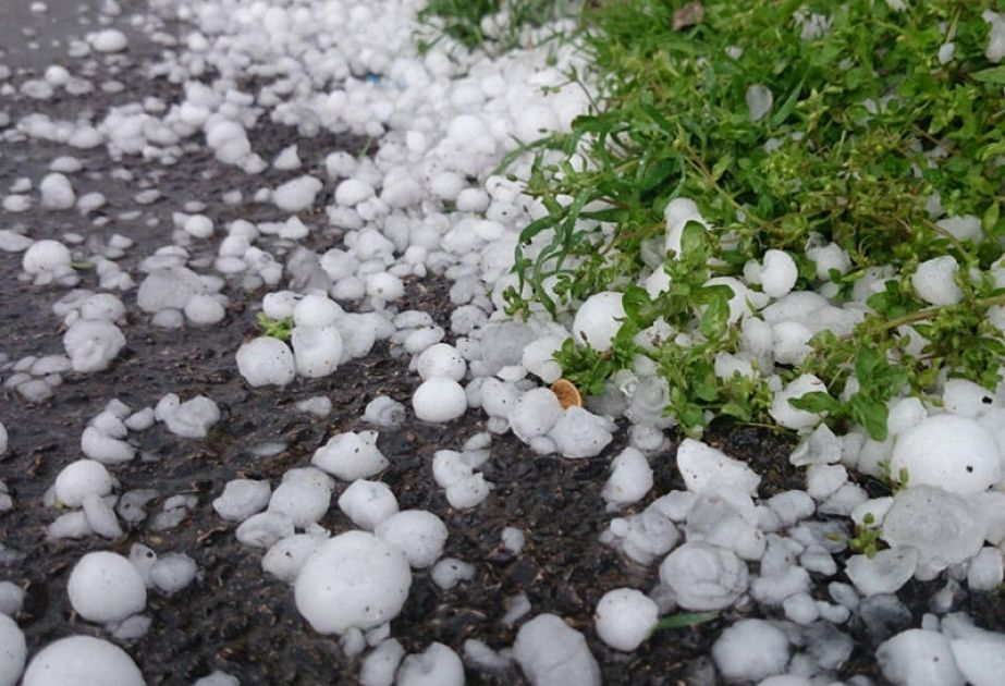
[[937, 486], [953, 493], [979, 493], [1002, 480], [994, 436], [973, 419], [935, 415], [896, 439], [891, 471], [907, 469], [911, 486]]

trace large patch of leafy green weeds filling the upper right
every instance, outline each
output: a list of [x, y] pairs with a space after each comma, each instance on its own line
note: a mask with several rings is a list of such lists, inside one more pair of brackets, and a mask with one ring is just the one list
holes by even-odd
[[[523, 149], [534, 155], [525, 193], [546, 215], [519, 236], [508, 310], [562, 316], [593, 293], [623, 292], [625, 335], [599, 357], [563, 347], [564, 373], [592, 391], [648, 356], [670, 383], [667, 411], [689, 432], [716, 414], [767, 420], [772, 372], [817, 375], [829, 392], [793, 404], [877, 440], [887, 403], [923, 394], [941, 375], [993, 387], [1005, 357], [990, 317], [1005, 305], [995, 277], [1005, 77], [983, 54], [990, 1], [897, 12], [873, 0], [708, 0], [702, 21], [675, 29], [683, 4], [587, 10], [591, 69], [568, 78], [592, 84], [595, 107], [571, 132]], [[952, 59], [940, 59], [948, 42]], [[762, 117], [751, 115], [751, 89], [773, 96]], [[667, 255], [663, 210], [678, 197], [694, 199], [711, 228], [687, 226], [681, 254]], [[933, 220], [935, 205], [979, 218], [980, 230], [957, 235]], [[846, 268], [818, 272], [811, 248], [825, 244], [847, 256]], [[716, 356], [738, 350], [727, 316], [735, 293], [708, 280], [740, 278], [770, 248], [796, 260], [797, 289], [868, 309], [853, 332], [814, 336], [798, 366], [719, 378]], [[960, 298], [932, 306], [911, 278], [944, 255], [959, 267]], [[650, 297], [636, 284], [653, 267], [672, 285]], [[860, 284], [866, 295], [878, 290], [867, 299]], [[636, 334], [657, 322], [665, 334], [640, 346]]]

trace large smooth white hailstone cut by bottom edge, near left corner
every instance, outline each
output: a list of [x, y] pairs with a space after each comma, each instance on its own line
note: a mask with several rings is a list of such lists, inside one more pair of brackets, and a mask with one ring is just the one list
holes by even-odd
[[24, 673], [22, 686], [146, 686], [133, 659], [114, 644], [69, 636], [46, 646]]

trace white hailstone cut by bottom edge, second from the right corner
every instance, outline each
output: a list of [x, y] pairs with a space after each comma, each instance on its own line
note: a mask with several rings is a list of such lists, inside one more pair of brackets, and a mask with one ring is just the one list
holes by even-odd
[[964, 686], [967, 681], [956, 666], [949, 639], [939, 632], [902, 632], [877, 649], [875, 661], [897, 686]]

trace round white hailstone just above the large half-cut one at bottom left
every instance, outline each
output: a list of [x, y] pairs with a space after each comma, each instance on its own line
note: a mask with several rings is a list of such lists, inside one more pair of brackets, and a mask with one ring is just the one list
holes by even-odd
[[147, 587], [126, 558], [113, 552], [90, 552], [81, 558], [66, 584], [70, 604], [88, 622], [107, 624], [143, 612]]

